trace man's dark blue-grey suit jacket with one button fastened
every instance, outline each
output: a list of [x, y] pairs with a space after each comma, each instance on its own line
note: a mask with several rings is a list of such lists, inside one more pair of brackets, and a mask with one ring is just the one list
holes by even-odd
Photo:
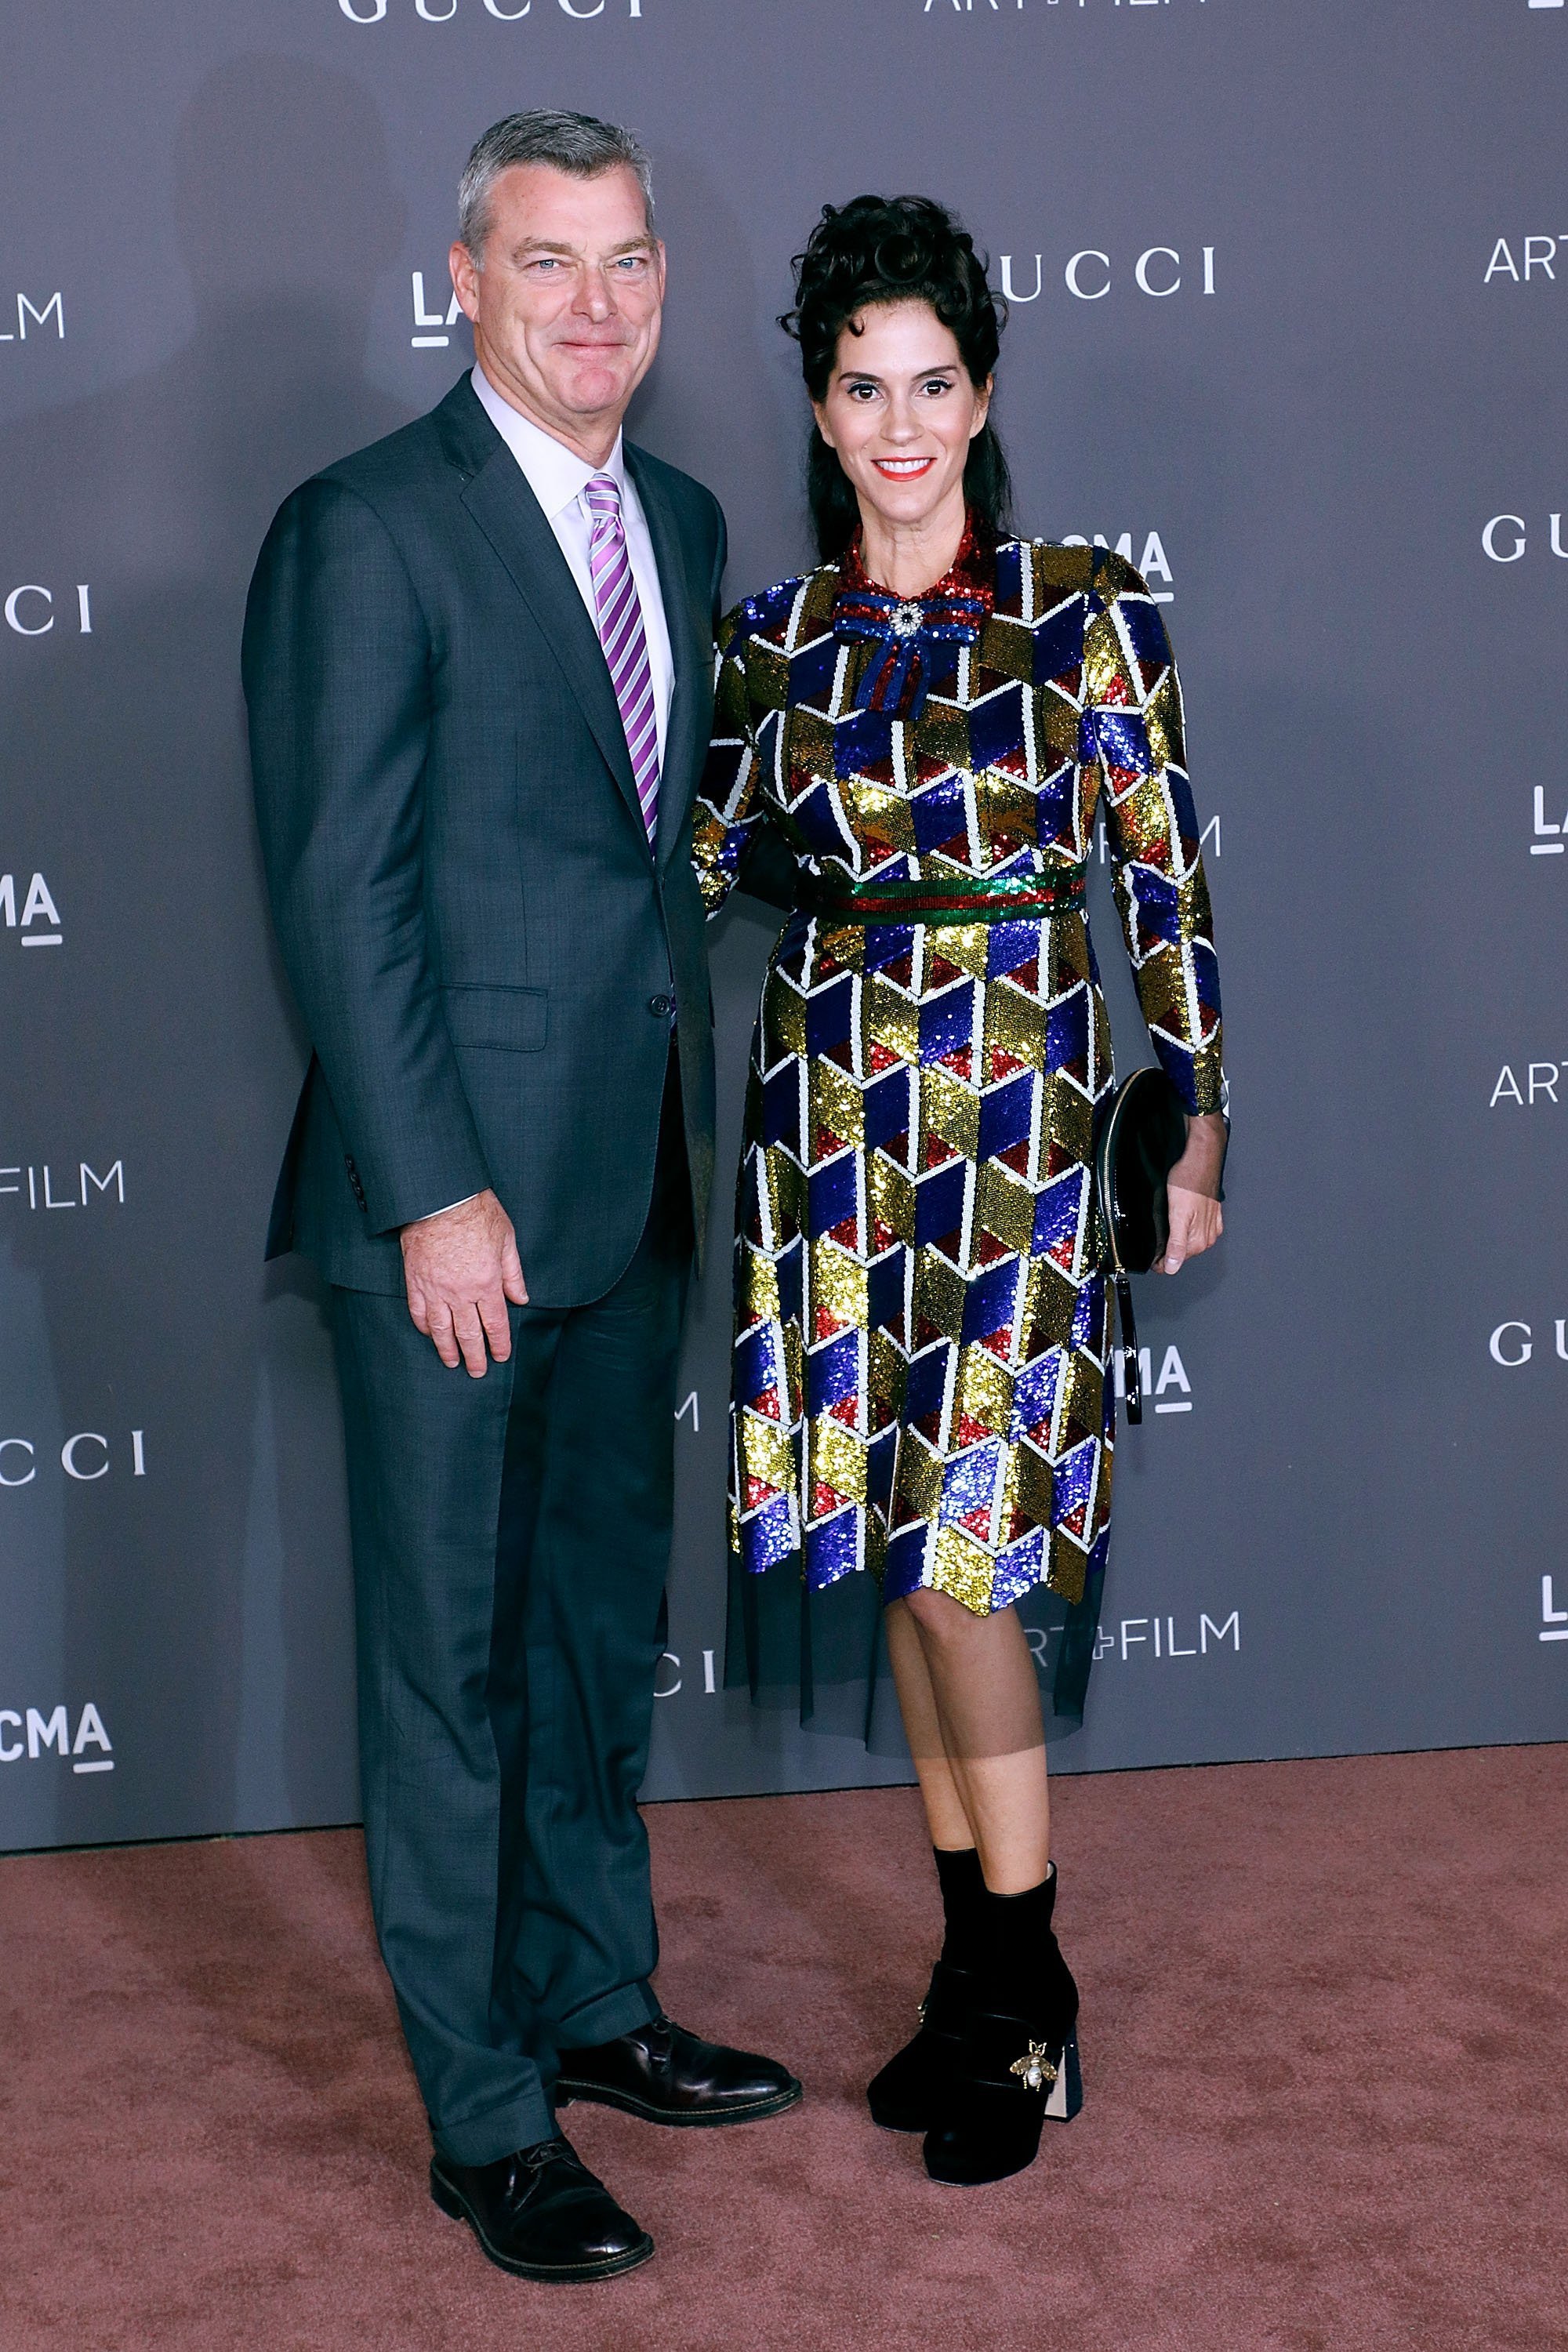
[[268, 532], [244, 699], [268, 891], [315, 1047], [268, 1256], [402, 1291], [397, 1228], [491, 1185], [538, 1305], [625, 1270], [675, 1000], [698, 1237], [712, 997], [691, 797], [724, 515], [628, 445], [675, 699], [658, 842], [555, 534], [468, 376]]

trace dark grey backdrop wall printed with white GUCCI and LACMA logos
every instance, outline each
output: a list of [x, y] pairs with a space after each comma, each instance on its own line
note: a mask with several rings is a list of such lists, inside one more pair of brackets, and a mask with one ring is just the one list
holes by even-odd
[[[0, 1846], [357, 1811], [240, 609], [282, 494], [468, 365], [454, 183], [529, 103], [656, 153], [637, 437], [733, 593], [806, 550], [773, 318], [870, 186], [1006, 270], [1027, 527], [1171, 600], [1232, 1230], [1143, 1287], [1060, 1766], [1563, 1736], [1563, 0], [12, 0], [5, 59]], [[715, 941], [729, 1164], [766, 948]], [[726, 1319], [719, 1249], [649, 1795], [907, 1778], [715, 1689]]]

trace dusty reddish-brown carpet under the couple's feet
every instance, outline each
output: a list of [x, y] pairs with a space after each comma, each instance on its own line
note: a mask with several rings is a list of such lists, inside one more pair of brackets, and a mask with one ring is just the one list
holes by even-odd
[[1544, 2352], [1568, 2343], [1568, 1748], [1058, 1788], [1088, 2105], [994, 2190], [872, 2131], [933, 1936], [912, 1792], [651, 1811], [670, 2011], [806, 2105], [574, 2107], [658, 2239], [494, 2272], [350, 1832], [0, 1860], [5, 2352]]

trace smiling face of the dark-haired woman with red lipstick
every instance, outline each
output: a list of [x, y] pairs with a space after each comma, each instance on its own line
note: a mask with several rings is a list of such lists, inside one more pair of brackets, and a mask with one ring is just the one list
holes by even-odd
[[860, 513], [919, 529], [964, 501], [969, 445], [992, 386], [971, 383], [952, 327], [924, 301], [877, 303], [839, 334], [818, 430], [849, 475]]

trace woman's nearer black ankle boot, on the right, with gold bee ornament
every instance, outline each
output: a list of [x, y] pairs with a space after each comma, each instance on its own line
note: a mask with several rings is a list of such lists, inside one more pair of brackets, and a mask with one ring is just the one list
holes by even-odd
[[1079, 1987], [1051, 1931], [1053, 1905], [1056, 1865], [1023, 1896], [983, 1896], [987, 1957], [926, 2133], [933, 2180], [1006, 2180], [1039, 2154], [1046, 2117], [1067, 2124], [1084, 2105]]

